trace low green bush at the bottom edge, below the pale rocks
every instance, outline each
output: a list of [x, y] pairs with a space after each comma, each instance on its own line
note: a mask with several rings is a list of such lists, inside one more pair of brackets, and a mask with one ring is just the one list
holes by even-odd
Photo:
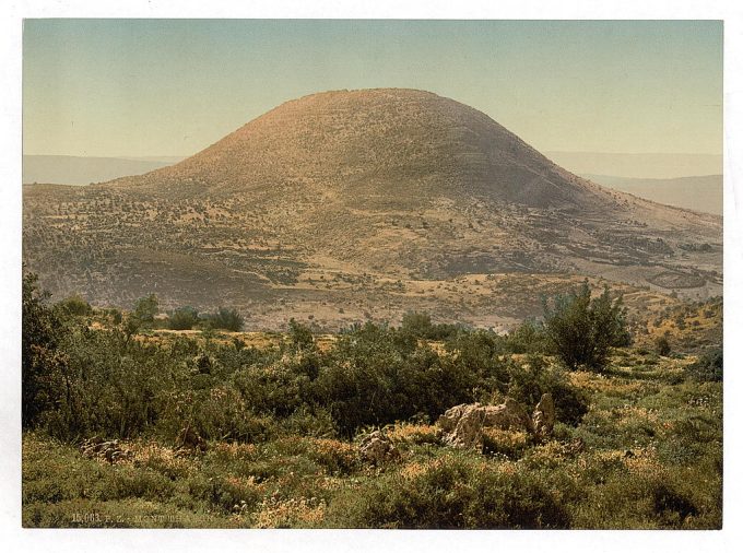
[[568, 528], [565, 506], [540, 474], [486, 470], [479, 459], [448, 455], [412, 476], [382, 475], [332, 505], [330, 517], [353, 528]]

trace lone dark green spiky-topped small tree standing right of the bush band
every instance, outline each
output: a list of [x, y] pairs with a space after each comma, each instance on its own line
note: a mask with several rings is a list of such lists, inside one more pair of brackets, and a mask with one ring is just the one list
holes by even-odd
[[600, 370], [612, 346], [628, 339], [622, 297], [612, 301], [609, 286], [591, 298], [588, 281], [578, 291], [544, 302], [544, 330], [550, 345], [565, 365]]

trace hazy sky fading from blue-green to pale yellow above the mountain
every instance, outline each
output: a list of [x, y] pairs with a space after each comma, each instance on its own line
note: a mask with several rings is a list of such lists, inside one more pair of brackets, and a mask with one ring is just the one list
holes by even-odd
[[282, 102], [413, 87], [542, 151], [722, 152], [722, 23], [26, 20], [24, 153], [190, 155]]

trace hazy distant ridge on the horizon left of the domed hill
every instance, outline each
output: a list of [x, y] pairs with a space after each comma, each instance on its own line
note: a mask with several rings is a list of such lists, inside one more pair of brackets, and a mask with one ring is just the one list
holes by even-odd
[[24, 155], [23, 183], [89, 185], [127, 175], [141, 175], [175, 161], [80, 157], [73, 155]]

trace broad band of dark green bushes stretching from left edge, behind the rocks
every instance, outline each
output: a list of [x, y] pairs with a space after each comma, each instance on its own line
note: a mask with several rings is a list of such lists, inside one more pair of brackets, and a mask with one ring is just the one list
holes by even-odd
[[[546, 334], [535, 323], [510, 337], [463, 328], [439, 332], [426, 316], [408, 314], [399, 329], [367, 322], [321, 351], [311, 331], [292, 320], [280, 346], [257, 350], [184, 336], [167, 345], [132, 339], [128, 325], [154, 320], [154, 295], [138, 301], [123, 326], [92, 330], [71, 317], [60, 333], [54, 311], [28, 284], [24, 340], [35, 342], [24, 342], [24, 399], [35, 412], [24, 421], [62, 438], [155, 433], [175, 439], [190, 426], [208, 439], [250, 442], [286, 425], [352, 437], [370, 425], [434, 421], [455, 404], [505, 396], [532, 409], [547, 391], [561, 422], [577, 424], [587, 410], [585, 397], [540, 355], [511, 358], [514, 350], [543, 349]], [[197, 320], [203, 316], [184, 307], [172, 313], [170, 327], [191, 328]], [[229, 330], [243, 323], [226, 308], [208, 320]], [[446, 353], [422, 336], [446, 336]]]

